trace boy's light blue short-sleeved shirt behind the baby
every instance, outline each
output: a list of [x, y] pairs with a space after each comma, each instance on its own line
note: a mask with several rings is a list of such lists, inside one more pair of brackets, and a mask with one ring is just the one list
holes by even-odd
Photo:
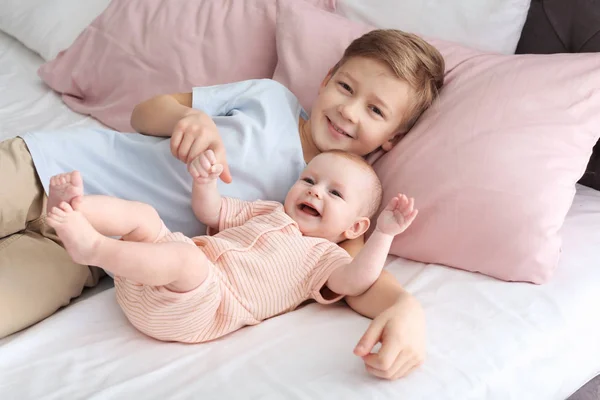
[[[306, 115], [298, 99], [261, 79], [194, 88], [193, 107], [213, 117], [227, 150], [233, 182], [219, 180], [221, 194], [283, 202], [305, 166], [298, 122]], [[94, 128], [22, 138], [46, 193], [52, 175], [78, 170], [85, 194], [142, 201], [158, 210], [170, 230], [205, 233], [191, 209], [192, 179], [171, 155], [170, 138]]]

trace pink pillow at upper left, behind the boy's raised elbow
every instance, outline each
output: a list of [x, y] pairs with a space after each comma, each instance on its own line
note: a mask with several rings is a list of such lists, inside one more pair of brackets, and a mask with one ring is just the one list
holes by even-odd
[[276, 0], [113, 0], [39, 75], [73, 110], [132, 131], [133, 107], [151, 96], [271, 77], [275, 16]]

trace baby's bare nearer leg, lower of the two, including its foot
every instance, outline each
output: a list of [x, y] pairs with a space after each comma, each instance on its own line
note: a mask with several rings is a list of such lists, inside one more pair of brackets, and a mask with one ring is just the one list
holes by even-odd
[[210, 261], [195, 245], [111, 239], [65, 202], [52, 209], [47, 222], [75, 262], [97, 265], [134, 282], [187, 292], [200, 286], [208, 275]]

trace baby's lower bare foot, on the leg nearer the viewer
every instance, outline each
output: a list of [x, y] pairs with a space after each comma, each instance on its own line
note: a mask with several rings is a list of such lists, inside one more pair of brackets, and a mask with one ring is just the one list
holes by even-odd
[[56, 230], [73, 261], [95, 265], [95, 255], [104, 236], [94, 229], [81, 212], [62, 201], [49, 210], [46, 223]]

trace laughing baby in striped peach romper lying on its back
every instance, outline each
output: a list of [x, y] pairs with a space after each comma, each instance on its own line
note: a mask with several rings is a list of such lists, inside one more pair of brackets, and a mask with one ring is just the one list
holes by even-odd
[[328, 304], [359, 295], [377, 280], [394, 236], [417, 215], [413, 199], [392, 198], [353, 260], [336, 243], [364, 234], [382, 197], [361, 157], [317, 155], [283, 205], [221, 198], [223, 167], [211, 150], [188, 171], [194, 213], [209, 227], [208, 236], [191, 239], [169, 232], [147, 204], [83, 196], [77, 171], [50, 181], [47, 223], [69, 255], [114, 273], [127, 318], [165, 341], [205, 342], [308, 299]]

